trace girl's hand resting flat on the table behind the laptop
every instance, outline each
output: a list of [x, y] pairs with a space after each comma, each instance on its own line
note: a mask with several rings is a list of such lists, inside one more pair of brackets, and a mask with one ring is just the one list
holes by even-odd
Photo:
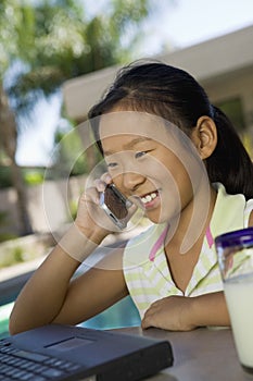
[[191, 298], [168, 296], [154, 302], [146, 311], [141, 327], [156, 327], [169, 331], [190, 331], [197, 328], [191, 322]]

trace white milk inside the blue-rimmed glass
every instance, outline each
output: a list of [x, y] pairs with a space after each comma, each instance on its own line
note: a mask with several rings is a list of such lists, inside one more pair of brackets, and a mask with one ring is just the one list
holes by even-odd
[[253, 368], [253, 274], [224, 283], [240, 362]]

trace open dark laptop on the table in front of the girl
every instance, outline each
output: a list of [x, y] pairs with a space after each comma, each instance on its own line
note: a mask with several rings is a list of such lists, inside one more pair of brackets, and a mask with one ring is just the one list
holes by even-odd
[[49, 324], [0, 340], [0, 380], [135, 381], [173, 365], [166, 340]]

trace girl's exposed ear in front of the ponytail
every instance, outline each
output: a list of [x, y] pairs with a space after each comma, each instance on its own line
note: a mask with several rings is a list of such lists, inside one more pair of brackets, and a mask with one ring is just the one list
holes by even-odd
[[210, 116], [199, 118], [191, 139], [201, 159], [207, 159], [217, 145], [217, 128], [214, 121]]

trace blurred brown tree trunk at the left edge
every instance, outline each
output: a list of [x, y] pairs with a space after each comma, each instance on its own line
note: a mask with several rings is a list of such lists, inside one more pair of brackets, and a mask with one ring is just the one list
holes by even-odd
[[33, 233], [27, 211], [26, 187], [22, 177], [21, 168], [15, 161], [16, 152], [16, 122], [10, 109], [8, 97], [0, 83], [0, 145], [10, 160], [12, 185], [17, 194], [17, 211], [20, 218], [21, 235]]

